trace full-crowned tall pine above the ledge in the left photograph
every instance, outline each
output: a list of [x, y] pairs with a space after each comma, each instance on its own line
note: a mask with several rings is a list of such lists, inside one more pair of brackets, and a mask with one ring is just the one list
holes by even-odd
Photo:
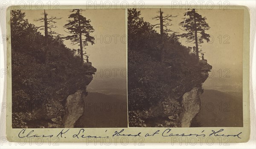
[[81, 11], [81, 9], [73, 9], [71, 11], [73, 14], [69, 16], [72, 20], [68, 20], [68, 23], [65, 24], [64, 27], [69, 30], [68, 33], [72, 34], [65, 38], [70, 39], [73, 45], [79, 44], [81, 63], [83, 64], [84, 55], [86, 54], [86, 52], [83, 53], [83, 48], [88, 45], [88, 42], [92, 45], [94, 44], [94, 37], [90, 36], [90, 33], [92, 33], [94, 29], [93, 26], [90, 25], [90, 19], [87, 20], [86, 17], [82, 16]]

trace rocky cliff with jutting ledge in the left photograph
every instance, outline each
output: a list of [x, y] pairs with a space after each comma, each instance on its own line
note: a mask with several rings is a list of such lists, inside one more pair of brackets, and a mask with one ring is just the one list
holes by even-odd
[[49, 101], [32, 104], [29, 112], [13, 113], [13, 121], [21, 120], [28, 128], [73, 128], [84, 112], [86, 87], [93, 80], [96, 68], [85, 63], [79, 70], [82, 70], [79, 74], [59, 84]]

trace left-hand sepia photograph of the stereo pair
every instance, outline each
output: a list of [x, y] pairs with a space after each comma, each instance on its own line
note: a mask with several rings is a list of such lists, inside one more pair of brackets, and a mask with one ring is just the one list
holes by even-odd
[[10, 21], [13, 128], [128, 127], [124, 9], [12, 10]]

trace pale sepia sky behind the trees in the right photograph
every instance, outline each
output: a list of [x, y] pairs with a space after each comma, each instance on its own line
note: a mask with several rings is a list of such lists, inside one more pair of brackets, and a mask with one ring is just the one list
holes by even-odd
[[[173, 26], [171, 26], [170, 29], [179, 32], [180, 34], [185, 32], [180, 29], [182, 26], [179, 26], [178, 24], [181, 21], [184, 21], [183, 15], [186, 12], [186, 9], [162, 8], [161, 10], [164, 11], [163, 16], [166, 14], [172, 14], [173, 16], [178, 15], [173, 18]], [[152, 17], [157, 16], [157, 11], [159, 11], [159, 9], [147, 8], [140, 11], [144, 21], [150, 22], [151, 24], [159, 23], [159, 20], [156, 21], [151, 19]], [[243, 10], [197, 9], [196, 11], [201, 14], [202, 17], [207, 18], [206, 22], [209, 24], [210, 29], [206, 31], [206, 33], [214, 37], [211, 44], [204, 42], [201, 44], [202, 47], [199, 47], [206, 52], [204, 58], [207, 59], [210, 65], [212, 65], [212, 69], [215, 73], [214, 77], [219, 77], [219, 73], [217, 72], [219, 69], [222, 70], [223, 74], [225, 74], [223, 72], [224, 69], [229, 69], [230, 79], [235, 79], [241, 82], [244, 29]], [[224, 37], [225, 35], [228, 36]], [[226, 44], [224, 44], [224, 41], [226, 41]], [[182, 45], [190, 47], [195, 46], [194, 44], [186, 44], [185, 40], [182, 40]]]

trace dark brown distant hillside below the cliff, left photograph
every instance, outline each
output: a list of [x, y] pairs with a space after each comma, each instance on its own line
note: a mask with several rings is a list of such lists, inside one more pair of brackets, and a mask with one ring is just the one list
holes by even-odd
[[84, 99], [84, 114], [75, 127], [127, 127], [127, 98], [89, 92]]

